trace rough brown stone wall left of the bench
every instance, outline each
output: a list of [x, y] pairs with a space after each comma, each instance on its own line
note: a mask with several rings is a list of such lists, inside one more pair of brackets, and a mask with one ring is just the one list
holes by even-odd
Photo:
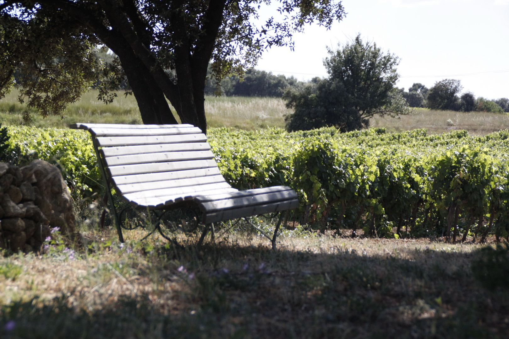
[[0, 248], [39, 251], [53, 227], [74, 233], [71, 194], [59, 169], [42, 160], [21, 168], [0, 163]]

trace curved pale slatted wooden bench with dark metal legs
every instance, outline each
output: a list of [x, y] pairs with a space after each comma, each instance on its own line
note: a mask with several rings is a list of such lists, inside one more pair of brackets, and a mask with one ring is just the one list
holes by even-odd
[[[141, 209], [197, 206], [200, 222], [206, 225], [199, 243], [213, 229], [213, 223], [285, 211], [298, 205], [296, 193], [286, 186], [246, 191], [232, 188], [219, 172], [207, 137], [192, 125], [73, 124], [70, 128], [92, 134], [122, 242], [111, 187]], [[274, 249], [281, 220], [282, 214], [272, 237], [262, 232]]]

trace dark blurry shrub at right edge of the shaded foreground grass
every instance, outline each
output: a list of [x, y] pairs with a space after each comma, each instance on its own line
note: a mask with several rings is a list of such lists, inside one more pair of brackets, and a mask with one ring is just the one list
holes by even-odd
[[509, 289], [509, 243], [487, 246], [477, 251], [472, 260], [472, 272], [483, 287]]

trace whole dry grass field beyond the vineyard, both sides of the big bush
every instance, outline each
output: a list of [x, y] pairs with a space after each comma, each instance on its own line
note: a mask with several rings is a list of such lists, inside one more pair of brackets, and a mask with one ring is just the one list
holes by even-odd
[[[22, 123], [21, 113], [25, 107], [17, 102], [16, 90], [0, 101], [0, 120], [3, 125]], [[122, 93], [109, 105], [97, 101], [97, 91], [91, 90], [82, 99], [69, 106], [67, 117], [49, 116], [42, 119], [32, 114], [36, 127], [67, 127], [74, 122], [103, 122], [117, 124], [141, 124], [142, 119], [133, 96]], [[267, 127], [285, 127], [285, 115], [292, 111], [278, 98], [214, 97], [205, 99], [205, 112], [209, 127], [231, 127], [256, 130]], [[372, 118], [371, 127], [386, 127], [391, 132], [426, 128], [430, 134], [452, 129], [467, 130], [471, 134], [486, 135], [509, 129], [509, 115], [487, 112], [433, 111], [415, 109], [415, 114], [397, 118]]]

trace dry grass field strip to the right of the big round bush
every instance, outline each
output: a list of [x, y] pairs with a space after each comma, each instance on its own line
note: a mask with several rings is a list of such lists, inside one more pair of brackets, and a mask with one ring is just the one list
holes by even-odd
[[372, 127], [386, 127], [390, 132], [428, 129], [429, 134], [440, 134], [450, 130], [467, 130], [470, 134], [486, 135], [509, 129], [509, 114], [488, 112], [433, 111], [415, 109], [415, 114], [397, 118], [375, 117], [370, 120]]

